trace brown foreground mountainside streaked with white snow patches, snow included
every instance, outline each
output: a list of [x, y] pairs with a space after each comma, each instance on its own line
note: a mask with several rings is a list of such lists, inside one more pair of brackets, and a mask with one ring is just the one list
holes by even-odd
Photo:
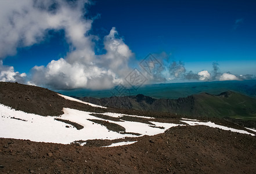
[[0, 173], [252, 173], [255, 135], [221, 118], [104, 107], [0, 82]]

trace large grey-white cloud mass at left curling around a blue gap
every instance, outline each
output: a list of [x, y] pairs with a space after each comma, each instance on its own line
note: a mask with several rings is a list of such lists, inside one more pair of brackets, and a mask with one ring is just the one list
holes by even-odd
[[[92, 20], [84, 17], [85, 3], [90, 2], [0, 1], [0, 42], [3, 43], [0, 45], [0, 59], [15, 55], [19, 47], [41, 42], [49, 30], [64, 30], [70, 52], [62, 59], [52, 60], [47, 66], [35, 66], [28, 84], [55, 89], [102, 89], [122, 82], [120, 79], [130, 71], [128, 60], [132, 52], [118, 38], [113, 27], [104, 38], [106, 54], [95, 55], [93, 39], [96, 36], [89, 34]], [[13, 67], [9, 67], [8, 72], [15, 73]], [[5, 81], [15, 81], [13, 78], [17, 77], [17, 72], [16, 76], [5, 76]]]

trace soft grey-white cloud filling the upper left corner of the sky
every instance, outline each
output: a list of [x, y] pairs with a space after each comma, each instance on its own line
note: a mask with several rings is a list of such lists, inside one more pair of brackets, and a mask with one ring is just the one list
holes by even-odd
[[78, 46], [91, 20], [81, 21], [87, 1], [0, 1], [0, 57], [15, 55], [19, 47], [41, 42], [47, 30], [66, 28], [67, 38]]

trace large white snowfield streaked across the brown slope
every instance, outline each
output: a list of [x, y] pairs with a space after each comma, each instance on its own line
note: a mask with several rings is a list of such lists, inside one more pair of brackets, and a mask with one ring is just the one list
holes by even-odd
[[[172, 124], [164, 122], [156, 122], [153, 118], [148, 124], [143, 122], [132, 122], [120, 119], [120, 121], [112, 121], [110, 119], [103, 119], [95, 117], [91, 112], [85, 112], [80, 110], [75, 110], [71, 108], [63, 108], [63, 115], [60, 117], [44, 117], [36, 114], [28, 114], [23, 111], [14, 110], [8, 106], [0, 104], [0, 137], [14, 138], [14, 139], [29, 139], [35, 142], [51, 142], [51, 143], [62, 143], [70, 144], [78, 140], [89, 140], [89, 139], [120, 139], [124, 137], [138, 137], [143, 135], [157, 135], [158, 133], [163, 133], [165, 130], [173, 126], [184, 126], [183, 124]], [[99, 114], [99, 113], [97, 113]], [[113, 118], [121, 117], [124, 114], [117, 113], [104, 113], [104, 115], [109, 115]], [[139, 117], [137, 115], [125, 115], [131, 117]], [[71, 124], [67, 124], [62, 121], [57, 121], [56, 118], [62, 120], [74, 122], [84, 128], [78, 130]], [[149, 119], [147, 118], [147, 119]], [[96, 124], [89, 119], [97, 119], [102, 121], [107, 121], [108, 123], [113, 123], [125, 128], [125, 132], [114, 132], [106, 128], [106, 126]], [[214, 128], [220, 128], [224, 130], [230, 130], [233, 132], [246, 133], [253, 135], [247, 131], [228, 128], [226, 126], [221, 126], [214, 124], [212, 122], [200, 122], [197, 120], [185, 120], [182, 122], [189, 125], [206, 125], [212, 126]], [[151, 124], [154, 124], [152, 126]], [[130, 133], [135, 133], [132, 135]], [[136, 135], [137, 133], [137, 135]], [[140, 135], [138, 135], [140, 134]], [[125, 143], [124, 143], [125, 144]], [[113, 145], [114, 146], [114, 145]], [[118, 145], [117, 145], [118, 146]]]

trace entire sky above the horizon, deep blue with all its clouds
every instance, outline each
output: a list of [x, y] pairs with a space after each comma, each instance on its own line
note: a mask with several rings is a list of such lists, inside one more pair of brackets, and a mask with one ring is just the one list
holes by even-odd
[[255, 79], [255, 9], [254, 0], [2, 0], [0, 81], [110, 89]]

